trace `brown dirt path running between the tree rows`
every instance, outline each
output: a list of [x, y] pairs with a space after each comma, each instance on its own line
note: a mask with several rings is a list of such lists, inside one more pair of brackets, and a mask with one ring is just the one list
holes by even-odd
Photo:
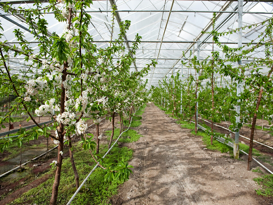
[[[159, 108], [150, 104], [138, 128], [141, 137], [131, 145], [129, 181], [111, 198], [112, 204], [271, 204], [257, 196], [260, 188], [246, 171], [247, 162], [229, 154], [204, 149], [202, 139], [182, 129]], [[253, 164], [253, 166], [255, 166]]]

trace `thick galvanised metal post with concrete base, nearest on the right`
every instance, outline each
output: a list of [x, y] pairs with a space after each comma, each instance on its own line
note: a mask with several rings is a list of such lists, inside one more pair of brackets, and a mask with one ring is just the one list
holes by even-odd
[[[238, 26], [239, 26], [239, 33], [238, 33], [238, 48], [242, 47], [242, 26], [243, 26], [243, 0], [238, 0]], [[238, 66], [241, 65], [241, 60], [238, 61]], [[237, 82], [237, 92], [236, 95], [239, 96], [241, 93], [241, 85]], [[240, 101], [238, 101], [238, 104]], [[240, 105], [236, 106], [236, 125], [240, 122]], [[233, 144], [233, 155], [234, 159], [239, 159], [239, 130], [235, 132], [235, 142]]]

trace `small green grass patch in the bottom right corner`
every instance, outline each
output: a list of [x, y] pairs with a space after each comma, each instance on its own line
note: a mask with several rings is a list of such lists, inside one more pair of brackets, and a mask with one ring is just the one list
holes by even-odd
[[273, 196], [273, 175], [263, 175], [253, 180], [262, 186], [261, 189], [255, 189], [258, 195]]

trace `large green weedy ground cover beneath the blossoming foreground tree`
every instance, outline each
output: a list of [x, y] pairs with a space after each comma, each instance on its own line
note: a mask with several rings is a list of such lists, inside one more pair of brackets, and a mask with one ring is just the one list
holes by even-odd
[[[101, 153], [105, 153], [107, 151], [107, 145], [101, 145], [100, 148]], [[87, 151], [82, 150], [79, 146], [77, 147], [77, 149], [79, 149], [80, 151], [74, 153], [74, 157], [81, 182], [92, 170], [95, 163]], [[133, 156], [133, 150], [129, 149], [128, 147], [119, 148], [118, 146], [114, 146], [111, 153], [111, 155], [106, 156], [104, 161], [106, 163], [113, 163], [113, 166], [115, 166], [117, 162], [121, 161], [122, 159], [125, 162], [129, 161]], [[52, 184], [54, 182], [54, 172], [55, 169], [47, 171], [44, 175], [51, 175], [47, 181], [37, 186], [36, 188], [33, 188], [28, 192], [22, 194], [20, 198], [14, 200], [9, 204], [48, 204], [51, 197]], [[86, 188], [88, 188], [89, 190], [87, 191], [85, 190], [85, 188], [82, 188], [82, 190], [73, 200], [72, 204], [109, 204], [109, 198], [117, 193], [117, 187], [119, 184], [121, 184], [120, 181], [105, 182], [103, 170], [96, 169], [86, 183]], [[71, 169], [70, 158], [67, 157], [63, 159], [58, 194], [59, 196], [57, 198], [58, 204], [66, 204], [75, 192], [75, 190], [76, 188], [74, 173]]]

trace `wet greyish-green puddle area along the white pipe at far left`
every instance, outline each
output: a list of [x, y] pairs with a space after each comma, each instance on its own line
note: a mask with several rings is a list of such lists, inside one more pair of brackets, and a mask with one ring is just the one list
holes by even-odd
[[[33, 159], [34, 157], [36, 157], [44, 152], [46, 152], [46, 147], [45, 148], [29, 149], [29, 150], [22, 152], [22, 164]], [[13, 159], [9, 159], [5, 165], [0, 167], [0, 175], [19, 166], [19, 165], [20, 165], [20, 154]], [[14, 177], [18, 177], [18, 176], [20, 176], [18, 174], [23, 174], [23, 173], [26, 173], [25, 175], [28, 174], [28, 172], [26, 172], [26, 171], [24, 171], [22, 173], [15, 171], [14, 173], [11, 173], [10, 175], [12, 175]], [[8, 177], [10, 177], [10, 175]], [[14, 178], [14, 177], [11, 177], [11, 178]]]

